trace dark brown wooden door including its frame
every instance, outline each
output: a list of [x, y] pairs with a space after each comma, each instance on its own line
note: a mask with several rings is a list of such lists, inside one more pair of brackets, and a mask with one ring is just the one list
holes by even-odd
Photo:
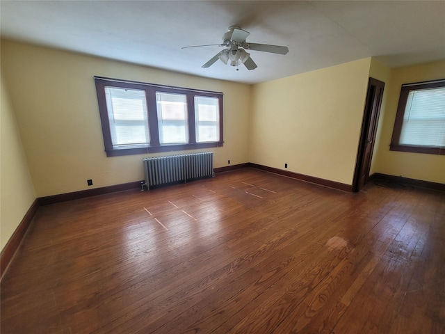
[[380, 114], [384, 88], [384, 82], [369, 78], [362, 132], [360, 134], [359, 149], [357, 153], [357, 163], [355, 164], [354, 191], [362, 189], [362, 186], [364, 186], [369, 179], [369, 170], [371, 168], [375, 134], [377, 132], [378, 116]]

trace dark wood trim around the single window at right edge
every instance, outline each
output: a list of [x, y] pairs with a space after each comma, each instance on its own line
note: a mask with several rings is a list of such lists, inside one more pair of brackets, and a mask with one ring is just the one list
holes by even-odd
[[435, 146], [423, 146], [423, 145], [401, 145], [398, 143], [401, 137], [403, 115], [405, 113], [406, 102], [410, 90], [438, 88], [438, 87], [445, 87], [445, 79], [416, 82], [413, 84], [402, 85], [401, 94], [398, 100], [396, 120], [394, 121], [394, 129], [392, 132], [391, 145], [389, 145], [389, 150], [399, 151], [399, 152], [445, 155], [445, 148], [435, 147]]

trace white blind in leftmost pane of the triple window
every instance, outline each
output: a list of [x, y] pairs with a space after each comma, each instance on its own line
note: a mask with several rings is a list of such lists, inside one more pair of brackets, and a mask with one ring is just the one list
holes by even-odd
[[105, 87], [105, 95], [113, 147], [149, 145], [145, 91]]

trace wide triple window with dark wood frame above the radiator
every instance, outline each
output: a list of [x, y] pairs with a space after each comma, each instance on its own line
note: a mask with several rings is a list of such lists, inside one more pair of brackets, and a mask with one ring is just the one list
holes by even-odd
[[223, 145], [223, 93], [95, 77], [108, 157]]

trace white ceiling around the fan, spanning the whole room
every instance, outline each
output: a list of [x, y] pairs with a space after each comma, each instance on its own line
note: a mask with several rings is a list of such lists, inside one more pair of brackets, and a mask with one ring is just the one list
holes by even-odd
[[[3, 38], [254, 84], [376, 56], [389, 67], [445, 59], [445, 1], [0, 1]], [[248, 42], [289, 47], [250, 51], [258, 68], [218, 61], [229, 26]]]

